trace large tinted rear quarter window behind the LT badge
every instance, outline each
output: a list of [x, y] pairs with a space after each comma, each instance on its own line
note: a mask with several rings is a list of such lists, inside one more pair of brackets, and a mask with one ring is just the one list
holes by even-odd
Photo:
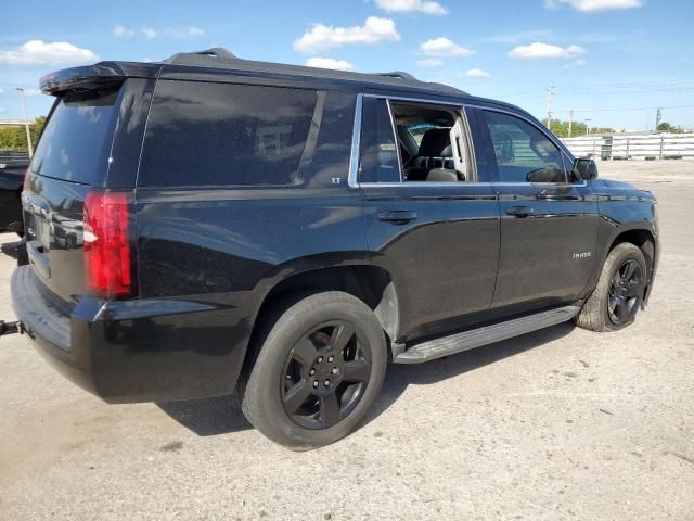
[[138, 186], [290, 185], [316, 100], [312, 90], [160, 80]]

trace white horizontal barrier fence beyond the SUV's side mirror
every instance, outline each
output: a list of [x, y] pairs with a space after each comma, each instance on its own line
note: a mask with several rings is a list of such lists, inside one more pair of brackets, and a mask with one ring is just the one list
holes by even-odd
[[562, 139], [577, 157], [694, 160], [694, 134], [581, 136]]

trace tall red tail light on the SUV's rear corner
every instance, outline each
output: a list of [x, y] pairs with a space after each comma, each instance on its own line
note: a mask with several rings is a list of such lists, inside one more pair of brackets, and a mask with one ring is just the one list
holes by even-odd
[[124, 192], [92, 191], [85, 198], [85, 276], [98, 296], [132, 292], [128, 205]]

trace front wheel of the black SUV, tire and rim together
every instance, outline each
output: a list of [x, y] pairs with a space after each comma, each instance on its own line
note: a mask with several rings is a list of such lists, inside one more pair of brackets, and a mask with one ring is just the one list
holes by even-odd
[[[632, 275], [626, 280], [624, 276], [632, 268]], [[605, 259], [595, 290], [576, 316], [576, 325], [607, 332], [633, 323], [643, 302], [646, 277], [646, 260], [639, 247], [629, 242], [615, 246]]]

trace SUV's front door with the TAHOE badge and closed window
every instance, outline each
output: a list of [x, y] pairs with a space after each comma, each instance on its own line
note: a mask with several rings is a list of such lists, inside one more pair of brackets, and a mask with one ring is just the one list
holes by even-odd
[[501, 214], [493, 307], [529, 310], [574, 301], [595, 259], [591, 188], [571, 182], [570, 158], [530, 118], [478, 110], [477, 120]]

